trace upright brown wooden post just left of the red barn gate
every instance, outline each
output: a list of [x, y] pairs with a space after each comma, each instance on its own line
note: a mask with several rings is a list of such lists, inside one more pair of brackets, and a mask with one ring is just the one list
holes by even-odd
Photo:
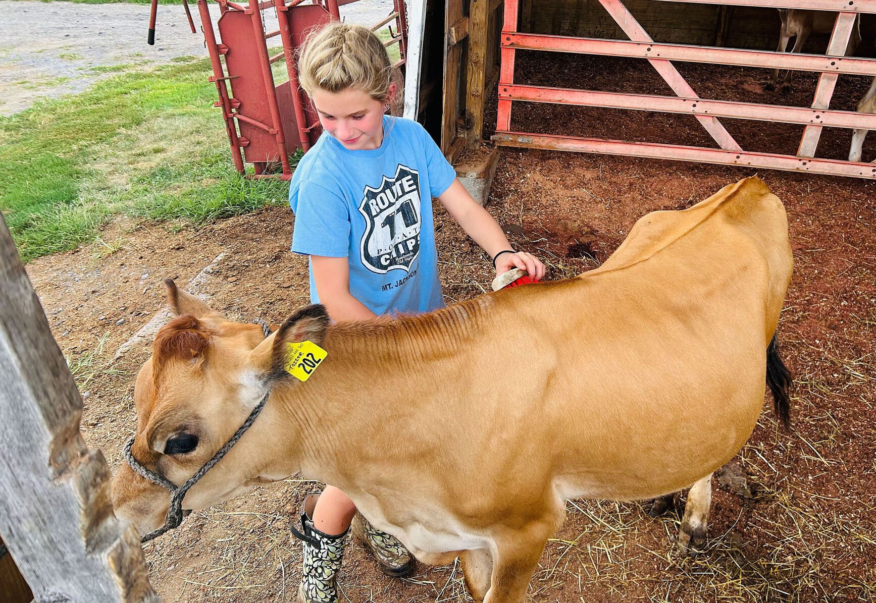
[[487, 56], [487, 21], [491, 0], [470, 0], [469, 68], [465, 88], [465, 144], [477, 149], [484, 136], [484, 79]]

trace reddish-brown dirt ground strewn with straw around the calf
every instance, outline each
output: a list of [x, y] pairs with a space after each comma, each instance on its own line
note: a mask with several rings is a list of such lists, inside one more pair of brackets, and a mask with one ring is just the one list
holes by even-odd
[[[549, 123], [546, 115], [520, 116], [520, 127]], [[604, 127], [580, 119], [582, 127]], [[629, 133], [638, 136], [633, 125], [627, 123]], [[701, 137], [697, 128], [679, 136]], [[755, 138], [758, 128], [739, 131]], [[841, 146], [828, 142], [826, 152]], [[548, 278], [568, 277], [604, 262], [640, 216], [689, 207], [751, 174], [505, 149], [488, 208], [516, 247], [548, 264]], [[744, 476], [750, 491], [716, 480], [708, 549], [696, 559], [673, 553], [674, 512], [651, 518], [639, 503], [569, 502], [568, 521], [548, 542], [530, 600], [808, 603], [876, 596], [876, 183], [759, 175], [788, 209], [795, 254], [779, 328], [795, 375], [793, 430], [780, 431], [765, 409], [729, 474]], [[487, 290], [489, 259], [447, 214], [436, 214], [448, 302]], [[102, 233], [108, 244], [28, 265], [53, 333], [82, 383], [83, 434], [110, 466], [118, 466], [133, 432], [133, 377], [148, 347], [112, 359], [159, 311], [162, 279], [185, 284], [224, 253], [201, 274], [199, 291], [232, 317], [279, 322], [307, 304], [306, 261], [288, 251], [292, 230], [286, 207], [200, 229], [120, 219]], [[286, 480], [194, 512], [145, 546], [152, 584], [169, 602], [293, 601], [300, 545], [287, 521], [317, 488]], [[350, 546], [341, 580], [342, 600], [352, 603], [466, 600], [458, 565], [420, 567], [412, 578], [393, 580], [357, 545]]]

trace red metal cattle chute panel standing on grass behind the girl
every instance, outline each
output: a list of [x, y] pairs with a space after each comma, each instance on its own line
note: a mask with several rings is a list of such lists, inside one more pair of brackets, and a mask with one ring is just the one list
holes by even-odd
[[[225, 130], [231, 144], [231, 157], [237, 172], [244, 173], [244, 160], [251, 163], [253, 178], [292, 178], [289, 155], [296, 147], [307, 151], [320, 135], [319, 118], [299, 87], [295, 52], [307, 31], [314, 26], [339, 19], [338, 6], [355, 0], [249, 0], [237, 4], [218, 0], [217, 21], [221, 41], [216, 41], [208, 0], [198, 0], [204, 32]], [[395, 10], [372, 31], [395, 21], [396, 32], [385, 46], [399, 44], [400, 59], [406, 60], [406, 16], [403, 0], [394, 0]], [[263, 11], [275, 9], [279, 29], [265, 31]], [[392, 31], [392, 30], [391, 30]], [[267, 40], [280, 37], [282, 51], [271, 56]], [[224, 61], [223, 61], [224, 58]], [[288, 80], [274, 84], [272, 64], [286, 61]], [[230, 88], [229, 88], [230, 85]], [[268, 173], [269, 165], [279, 165], [280, 173]]]

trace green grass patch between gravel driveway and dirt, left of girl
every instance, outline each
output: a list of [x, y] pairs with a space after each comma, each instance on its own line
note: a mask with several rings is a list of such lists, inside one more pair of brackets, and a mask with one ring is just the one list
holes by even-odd
[[0, 118], [0, 211], [22, 259], [74, 249], [114, 214], [202, 222], [286, 201], [234, 171], [208, 60], [112, 75]]

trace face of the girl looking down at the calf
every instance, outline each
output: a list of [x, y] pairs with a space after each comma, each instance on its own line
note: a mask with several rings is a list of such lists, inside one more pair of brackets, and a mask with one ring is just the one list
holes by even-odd
[[[390, 95], [394, 92], [390, 89]], [[312, 95], [322, 128], [350, 151], [378, 149], [383, 143], [385, 104], [362, 90], [341, 92], [316, 89]]]

